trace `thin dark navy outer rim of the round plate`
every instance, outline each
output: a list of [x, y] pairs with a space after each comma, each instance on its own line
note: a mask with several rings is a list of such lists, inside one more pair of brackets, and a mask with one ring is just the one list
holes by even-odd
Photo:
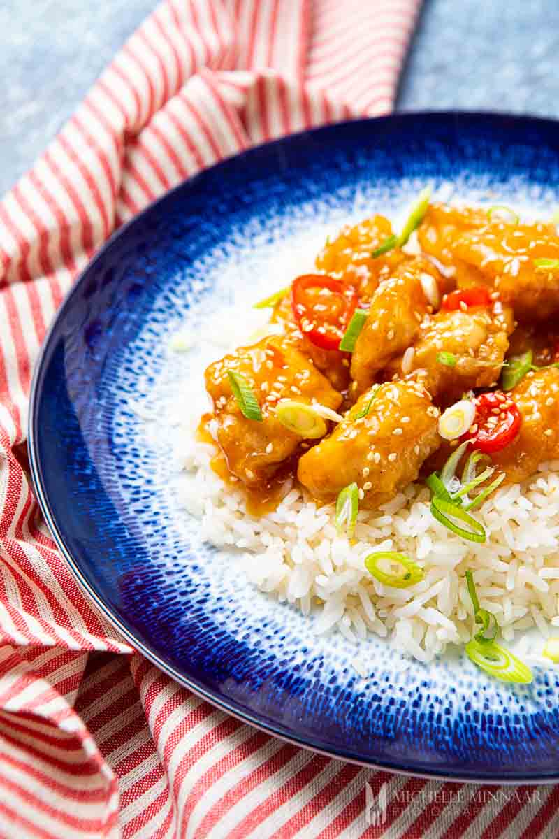
[[245, 722], [251, 725], [252, 727], [256, 727], [260, 731], [266, 732], [267, 734], [270, 734], [273, 737], [278, 737], [285, 743], [291, 743], [292, 745], [298, 746], [299, 748], [305, 748], [312, 753], [322, 754], [325, 757], [343, 760], [347, 763], [354, 763], [356, 765], [371, 770], [389, 771], [394, 774], [404, 775], [406, 777], [411, 778], [434, 779], [440, 781], [449, 781], [451, 783], [457, 784], [502, 784], [505, 786], [525, 784], [556, 784], [557, 781], [559, 781], [559, 767], [556, 771], [556, 774], [541, 774], [537, 772], [530, 774], [524, 772], [518, 775], [499, 775], [498, 773], [491, 773], [487, 771], [475, 771], [472, 773], [459, 774], [448, 773], [442, 770], [439, 771], [437, 769], [432, 769], [431, 771], [427, 772], [423, 771], [422, 769], [413, 769], [412, 767], [406, 768], [405, 765], [391, 763], [391, 761], [388, 760], [380, 761], [377, 763], [373, 760], [355, 758], [351, 754], [344, 753], [344, 750], [341, 747], [335, 747], [326, 750], [318, 747], [312, 742], [303, 740], [301, 737], [298, 737], [298, 735], [287, 735], [286, 733], [277, 730], [277, 728], [274, 727], [273, 723], [261, 722], [261, 720], [257, 719], [257, 717], [254, 717], [249, 711], [240, 710], [235, 706], [231, 706], [229, 702], [223, 701], [220, 698], [214, 696], [211, 690], [204, 690], [203, 686], [200, 686], [197, 683], [189, 680], [188, 676], [185, 676], [179, 670], [176, 670], [171, 664], [167, 664], [165, 661], [163, 661], [163, 659], [160, 659], [156, 651], [150, 649], [148, 646], [143, 644], [142, 641], [136, 638], [132, 630], [128, 629], [124, 624], [122, 624], [119, 618], [117, 618], [116, 615], [113, 612], [111, 612], [110, 607], [106, 605], [102, 597], [95, 591], [95, 589], [91, 586], [90, 582], [85, 578], [84, 574], [80, 571], [78, 563], [73, 559], [72, 555], [70, 554], [70, 550], [67, 549], [65, 545], [64, 535], [61, 529], [59, 528], [58, 524], [56, 524], [54, 516], [51, 512], [49, 501], [45, 492], [44, 482], [42, 479], [42, 470], [40, 466], [39, 451], [37, 446], [37, 440], [39, 438], [37, 422], [39, 399], [44, 376], [44, 366], [46, 358], [49, 354], [49, 345], [50, 342], [53, 340], [55, 331], [57, 331], [57, 328], [60, 325], [60, 321], [63, 320], [65, 316], [65, 311], [68, 309], [71, 300], [73, 300], [74, 298], [74, 295], [77, 294], [80, 285], [83, 283], [85, 277], [87, 276], [91, 268], [93, 268], [96, 265], [97, 262], [101, 262], [103, 258], [105, 258], [106, 252], [109, 250], [109, 248], [111, 248], [112, 243], [115, 242], [116, 239], [125, 236], [129, 227], [132, 227], [133, 225], [140, 223], [149, 212], [154, 211], [160, 204], [163, 204], [165, 201], [168, 201], [171, 196], [175, 195], [177, 192], [179, 192], [179, 190], [184, 189], [185, 185], [192, 184], [195, 180], [203, 178], [204, 174], [210, 170], [220, 169], [220, 167], [226, 166], [230, 163], [231, 160], [250, 159], [251, 155], [257, 154], [260, 149], [270, 149], [274, 146], [289, 142], [290, 140], [302, 138], [305, 135], [316, 136], [318, 133], [331, 133], [335, 131], [336, 128], [340, 128], [348, 124], [355, 126], [363, 125], [364, 127], [365, 125], [369, 125], [372, 128], [374, 128], [375, 125], [396, 121], [414, 122], [415, 120], [419, 119], [426, 120], [428, 122], [433, 117], [439, 119], [446, 118], [448, 120], [474, 119], [478, 121], [487, 121], [488, 123], [536, 123], [540, 124], [542, 127], [545, 126], [549, 129], [555, 128], [557, 133], [559, 134], [559, 119], [554, 119], [552, 117], [540, 117], [531, 115], [529, 113], [513, 114], [499, 111], [462, 110], [394, 112], [382, 117], [360, 117], [358, 119], [343, 120], [341, 122], [329, 123], [328, 125], [318, 126], [316, 128], [306, 128], [297, 133], [287, 134], [284, 137], [269, 140], [266, 143], [258, 143], [255, 146], [251, 146], [251, 148], [249, 149], [245, 149], [239, 152], [238, 154], [230, 155], [229, 157], [222, 159], [217, 163], [206, 167], [205, 169], [201, 169], [199, 172], [195, 173], [191, 177], [181, 180], [177, 185], [173, 186], [171, 190], [163, 192], [163, 195], [160, 195], [155, 201], [152, 201], [147, 206], [145, 206], [142, 209], [142, 211], [137, 213], [136, 216], [132, 216], [132, 218], [126, 221], [122, 225], [122, 227], [118, 227], [114, 232], [112, 232], [111, 236], [108, 237], [108, 239], [106, 239], [106, 242], [103, 242], [101, 248], [99, 248], [99, 250], [93, 256], [93, 258], [91, 258], [91, 260], [88, 263], [86, 263], [85, 267], [82, 268], [80, 270], [80, 273], [76, 276], [74, 283], [71, 285], [70, 289], [65, 294], [64, 300], [62, 300], [62, 303], [60, 304], [59, 308], [54, 313], [53, 320], [51, 320], [49, 328], [47, 329], [41, 346], [39, 347], [38, 357], [34, 364], [34, 372], [29, 392], [27, 414], [28, 460], [30, 468], [31, 486], [34, 491], [35, 499], [39, 504], [40, 511], [44, 517], [45, 524], [47, 524], [47, 526], [49, 527], [50, 534], [52, 535], [56, 546], [60, 550], [61, 555], [64, 557], [70, 569], [70, 573], [72, 574], [72, 576], [74, 576], [75, 581], [80, 586], [81, 591], [85, 592], [86, 596], [91, 597], [96, 607], [101, 610], [102, 614], [107, 618], [109, 623], [111, 623], [111, 625], [113, 625], [118, 630], [118, 632], [122, 634], [123, 638], [125, 638], [127, 642], [131, 645], [132, 650], [144, 655], [152, 664], [155, 664], [159, 670], [162, 670], [163, 673], [169, 675], [173, 680], [178, 682], [179, 685], [182, 685], [188, 690], [191, 690], [194, 693], [194, 695], [199, 696], [205, 701], [209, 701], [211, 705], [220, 708], [220, 710], [225, 711], [232, 717], [236, 717], [236, 719], [240, 720], [241, 722]]

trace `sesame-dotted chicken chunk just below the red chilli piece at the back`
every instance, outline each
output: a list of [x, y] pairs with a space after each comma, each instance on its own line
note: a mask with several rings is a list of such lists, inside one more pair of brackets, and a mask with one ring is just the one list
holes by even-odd
[[[499, 302], [490, 309], [441, 310], [423, 320], [410, 375], [443, 403], [471, 388], [490, 388], [499, 379], [513, 329], [512, 310]], [[401, 376], [401, 358], [386, 373]]]

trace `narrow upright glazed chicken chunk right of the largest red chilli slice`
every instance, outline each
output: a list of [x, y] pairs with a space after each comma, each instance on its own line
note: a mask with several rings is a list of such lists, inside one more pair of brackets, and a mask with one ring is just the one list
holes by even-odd
[[355, 395], [375, 381], [375, 375], [404, 352], [419, 331], [427, 312], [439, 300], [440, 274], [427, 259], [408, 259], [389, 279], [383, 279], [370, 302], [365, 326], [351, 357]]

